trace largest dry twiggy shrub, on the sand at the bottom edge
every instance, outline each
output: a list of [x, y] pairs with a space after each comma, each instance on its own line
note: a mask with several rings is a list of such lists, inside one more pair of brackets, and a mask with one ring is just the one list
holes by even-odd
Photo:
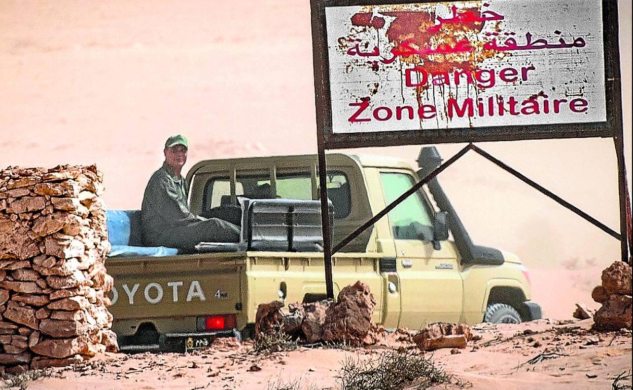
[[417, 351], [385, 351], [370, 360], [348, 358], [343, 362], [341, 390], [401, 390], [415, 384], [426, 389], [451, 380], [452, 375], [435, 366], [432, 358]]

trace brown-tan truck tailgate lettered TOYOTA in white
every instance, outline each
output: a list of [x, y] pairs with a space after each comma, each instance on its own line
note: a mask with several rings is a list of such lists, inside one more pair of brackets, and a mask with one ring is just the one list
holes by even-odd
[[108, 259], [110, 312], [115, 322], [152, 319], [159, 332], [194, 331], [197, 316], [241, 310], [245, 259], [244, 253]]

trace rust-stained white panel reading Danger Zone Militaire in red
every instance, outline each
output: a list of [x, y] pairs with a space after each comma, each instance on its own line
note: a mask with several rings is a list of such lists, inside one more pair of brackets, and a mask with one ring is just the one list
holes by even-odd
[[606, 121], [601, 1], [325, 8], [332, 133]]

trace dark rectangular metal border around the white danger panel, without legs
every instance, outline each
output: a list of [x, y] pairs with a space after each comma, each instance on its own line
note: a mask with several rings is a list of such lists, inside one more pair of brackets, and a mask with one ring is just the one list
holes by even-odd
[[[330, 101], [330, 67], [327, 47], [325, 8], [408, 3], [454, 3], [431, 0], [312, 0], [312, 39], [316, 92], [316, 126], [325, 149], [456, 143], [484, 141], [536, 140], [549, 138], [616, 137], [622, 133], [620, 96], [620, 51], [616, 0], [603, 0], [603, 50], [605, 53], [606, 122], [562, 123], [551, 125], [482, 126], [432, 130], [333, 133]], [[485, 134], [482, 134], [485, 133]]]

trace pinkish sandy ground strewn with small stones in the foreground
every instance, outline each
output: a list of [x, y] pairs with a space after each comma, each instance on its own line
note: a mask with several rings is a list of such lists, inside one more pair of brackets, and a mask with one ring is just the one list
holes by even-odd
[[[537, 320], [523, 324], [480, 324], [460, 353], [432, 353], [436, 365], [453, 375], [433, 389], [610, 389], [614, 378], [631, 369], [630, 331], [594, 332], [592, 320]], [[278, 389], [299, 381], [300, 389], [338, 389], [341, 363], [371, 359], [394, 348], [417, 347], [384, 334], [370, 348], [298, 348], [254, 355], [252, 344], [219, 339], [188, 354], [107, 354], [28, 383], [44, 389]], [[630, 376], [620, 384], [630, 385]], [[310, 387], [312, 386], [312, 387]], [[413, 387], [411, 387], [413, 389]]]

